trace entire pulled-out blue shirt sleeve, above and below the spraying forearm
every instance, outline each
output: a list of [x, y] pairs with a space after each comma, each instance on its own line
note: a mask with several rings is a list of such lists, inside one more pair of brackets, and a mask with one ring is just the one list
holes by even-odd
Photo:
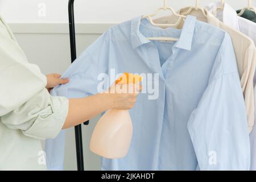
[[[74, 63], [65, 71], [63, 78], [71, 81], [65, 85], [56, 86], [51, 94], [67, 98], [82, 98], [97, 93], [97, 76], [105, 73], [108, 63], [106, 54], [108, 47], [108, 32], [102, 34], [88, 49], [77, 57]], [[72, 90], [72, 93], [69, 93]], [[55, 139], [46, 140], [47, 169], [51, 171], [64, 169], [65, 130]]]

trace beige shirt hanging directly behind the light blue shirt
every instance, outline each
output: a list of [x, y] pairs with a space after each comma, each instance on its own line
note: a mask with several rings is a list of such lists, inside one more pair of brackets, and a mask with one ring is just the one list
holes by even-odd
[[[180, 14], [188, 11], [188, 8], [181, 9]], [[196, 16], [197, 19], [212, 24], [213, 26], [219, 27], [222, 30], [228, 32], [232, 38], [234, 51], [236, 53], [238, 72], [241, 78], [241, 85], [243, 96], [245, 98], [245, 106], [248, 120], [248, 129], [251, 132], [254, 125], [254, 86], [253, 77], [256, 67], [256, 49], [253, 40], [251, 40], [246, 35], [241, 32], [234, 30], [233, 28], [227, 26], [218, 20], [214, 15], [212, 15], [208, 10], [205, 10], [207, 17], [198, 10], [192, 10], [189, 15]], [[154, 20], [155, 23], [175, 23], [177, 21], [177, 16], [166, 16], [163, 18], [158, 18]], [[181, 28], [183, 23], [178, 26]]]

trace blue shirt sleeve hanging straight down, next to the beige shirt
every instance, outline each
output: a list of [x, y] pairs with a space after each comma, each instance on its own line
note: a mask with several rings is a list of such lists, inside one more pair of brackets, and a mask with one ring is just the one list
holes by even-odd
[[225, 36], [215, 63], [209, 85], [188, 121], [199, 168], [249, 170], [245, 102], [229, 35]]

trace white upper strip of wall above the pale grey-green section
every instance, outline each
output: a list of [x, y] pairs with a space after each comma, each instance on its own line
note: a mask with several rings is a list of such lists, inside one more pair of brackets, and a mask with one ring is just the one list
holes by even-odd
[[[201, 0], [201, 6], [217, 0]], [[247, 6], [247, 0], [226, 0], [234, 9]], [[46, 16], [39, 17], [40, 3]], [[195, 5], [194, 0], [167, 0], [175, 10]], [[253, 0], [256, 5], [256, 0]], [[118, 23], [137, 15], [151, 13], [163, 0], [75, 0], [76, 22]], [[7, 22], [68, 22], [68, 0], [7, 0], [3, 16]]]

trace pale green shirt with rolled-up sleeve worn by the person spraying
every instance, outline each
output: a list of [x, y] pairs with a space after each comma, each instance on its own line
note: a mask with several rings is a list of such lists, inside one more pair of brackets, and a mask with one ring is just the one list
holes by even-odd
[[52, 97], [38, 66], [30, 64], [0, 17], [0, 170], [45, 170], [40, 139], [55, 138], [68, 100]]

